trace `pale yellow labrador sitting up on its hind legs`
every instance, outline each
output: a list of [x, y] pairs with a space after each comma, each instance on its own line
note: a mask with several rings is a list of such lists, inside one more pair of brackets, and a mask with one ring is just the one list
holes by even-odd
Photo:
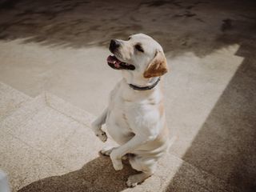
[[106, 129], [120, 146], [103, 149], [110, 155], [115, 170], [122, 170], [122, 158], [140, 174], [131, 175], [126, 184], [136, 186], [149, 178], [156, 162], [169, 146], [169, 134], [164, 111], [162, 79], [167, 72], [162, 46], [146, 34], [131, 35], [127, 41], [110, 42], [112, 56], [108, 65], [122, 71], [122, 80], [110, 93], [107, 108], [93, 123], [92, 129], [102, 142], [106, 142]]

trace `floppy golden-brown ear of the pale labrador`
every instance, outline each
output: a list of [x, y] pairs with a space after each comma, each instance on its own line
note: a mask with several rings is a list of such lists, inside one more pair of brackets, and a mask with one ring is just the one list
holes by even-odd
[[150, 62], [150, 65], [147, 66], [143, 76], [144, 78], [153, 78], [159, 77], [163, 74], [166, 74], [168, 71], [166, 57], [162, 51], [157, 51], [154, 59]]

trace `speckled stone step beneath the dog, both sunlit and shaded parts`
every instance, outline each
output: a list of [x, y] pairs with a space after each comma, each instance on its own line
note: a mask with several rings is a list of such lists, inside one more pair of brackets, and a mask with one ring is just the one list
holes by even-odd
[[142, 185], [127, 188], [134, 170], [115, 171], [98, 155], [103, 144], [90, 130], [93, 119], [53, 94], [30, 98], [0, 83], [0, 168], [12, 190], [238, 191], [174, 154], [166, 154]]

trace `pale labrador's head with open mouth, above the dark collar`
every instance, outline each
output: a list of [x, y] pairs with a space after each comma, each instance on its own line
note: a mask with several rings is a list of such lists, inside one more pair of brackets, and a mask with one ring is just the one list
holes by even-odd
[[110, 51], [114, 55], [107, 58], [109, 66], [122, 70], [130, 82], [134, 82], [131, 78], [149, 79], [168, 71], [162, 46], [146, 34], [131, 35], [127, 41], [112, 39]]

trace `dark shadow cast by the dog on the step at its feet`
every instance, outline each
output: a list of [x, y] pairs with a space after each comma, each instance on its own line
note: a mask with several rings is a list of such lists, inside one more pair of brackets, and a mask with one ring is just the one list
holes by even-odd
[[114, 170], [110, 158], [98, 157], [87, 162], [82, 169], [68, 174], [42, 178], [22, 187], [18, 192], [78, 192], [78, 191], [122, 191], [127, 188], [126, 179], [135, 170], [124, 162], [123, 170]]

